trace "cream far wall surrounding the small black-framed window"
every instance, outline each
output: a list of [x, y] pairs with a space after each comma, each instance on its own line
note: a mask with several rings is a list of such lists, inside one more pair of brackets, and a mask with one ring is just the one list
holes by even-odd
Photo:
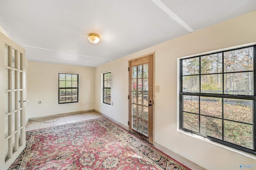
[[[94, 68], [36, 62], [28, 68], [29, 118], [94, 109]], [[78, 103], [58, 104], [58, 73], [79, 74]]]

